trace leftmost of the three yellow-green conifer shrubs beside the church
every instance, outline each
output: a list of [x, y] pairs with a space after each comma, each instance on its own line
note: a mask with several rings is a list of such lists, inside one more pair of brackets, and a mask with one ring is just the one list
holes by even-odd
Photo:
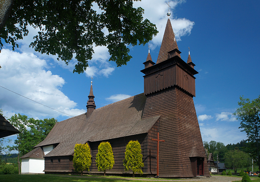
[[84, 170], [89, 170], [90, 164], [91, 154], [88, 144], [75, 144], [73, 156], [73, 167], [75, 171], [83, 175]]

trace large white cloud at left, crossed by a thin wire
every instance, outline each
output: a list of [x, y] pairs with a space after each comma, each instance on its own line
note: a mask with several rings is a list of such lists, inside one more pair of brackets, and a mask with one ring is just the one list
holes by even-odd
[[85, 112], [83, 109], [75, 109], [76, 103], [60, 90], [65, 84], [64, 79], [45, 70], [47, 63], [44, 59], [32, 53], [2, 49], [0, 60], [0, 85], [24, 96], [0, 87], [0, 108], [7, 117], [13, 115], [14, 111], [29, 117], [57, 117], [67, 116], [64, 113], [76, 115]]

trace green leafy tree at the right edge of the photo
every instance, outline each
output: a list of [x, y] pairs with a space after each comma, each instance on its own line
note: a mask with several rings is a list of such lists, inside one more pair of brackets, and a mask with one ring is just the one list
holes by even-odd
[[240, 96], [239, 108], [233, 113], [240, 120], [241, 131], [247, 135], [247, 152], [260, 166], [260, 95], [250, 100]]

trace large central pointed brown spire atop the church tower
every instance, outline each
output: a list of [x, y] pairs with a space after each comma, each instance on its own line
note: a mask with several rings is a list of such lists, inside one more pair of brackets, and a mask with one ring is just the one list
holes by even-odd
[[173, 29], [172, 29], [172, 26], [170, 23], [170, 19], [168, 18], [156, 63], [159, 63], [159, 62], [162, 62], [162, 61], [168, 59], [170, 57], [169, 51], [172, 51], [174, 49], [175, 50], [177, 49], [177, 51], [173, 51], [173, 52], [171, 52], [171, 54], [173, 56], [178, 55], [180, 57], [180, 55], [179, 55], [180, 51], [178, 50], [178, 45], [177, 45], [177, 42], [175, 39], [175, 34], [173, 32]]

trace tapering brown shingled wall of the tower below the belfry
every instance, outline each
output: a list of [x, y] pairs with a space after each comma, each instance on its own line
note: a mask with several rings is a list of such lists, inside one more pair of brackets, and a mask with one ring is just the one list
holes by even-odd
[[199, 156], [205, 156], [205, 151], [192, 97], [178, 87], [149, 94], [143, 117], [152, 115], [160, 115], [160, 139], [165, 140], [160, 143], [159, 176], [194, 177], [191, 149], [195, 146]]

